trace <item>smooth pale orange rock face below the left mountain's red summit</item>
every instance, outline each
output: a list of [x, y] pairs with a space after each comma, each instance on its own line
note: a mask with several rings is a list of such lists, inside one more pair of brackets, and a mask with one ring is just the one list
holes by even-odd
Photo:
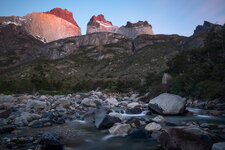
[[32, 13], [23, 17], [25, 29], [32, 35], [44, 37], [47, 42], [80, 35], [80, 28], [74, 24], [45, 13]]

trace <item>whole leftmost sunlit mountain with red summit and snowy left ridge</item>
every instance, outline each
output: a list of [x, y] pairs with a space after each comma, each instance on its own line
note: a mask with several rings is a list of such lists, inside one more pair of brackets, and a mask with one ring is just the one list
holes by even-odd
[[31, 13], [23, 17], [0, 17], [0, 23], [21, 26], [34, 37], [46, 42], [81, 35], [81, 31], [72, 12], [55, 8], [46, 13]]

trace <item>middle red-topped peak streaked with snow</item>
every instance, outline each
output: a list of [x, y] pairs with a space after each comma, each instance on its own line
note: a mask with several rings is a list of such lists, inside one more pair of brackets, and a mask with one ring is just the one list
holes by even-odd
[[110, 21], [106, 21], [103, 15], [92, 16], [87, 25], [87, 34], [94, 32], [116, 32], [117, 26], [113, 26]]

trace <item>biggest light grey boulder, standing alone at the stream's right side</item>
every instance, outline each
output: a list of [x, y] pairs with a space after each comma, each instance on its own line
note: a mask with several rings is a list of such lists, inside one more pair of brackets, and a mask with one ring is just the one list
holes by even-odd
[[184, 113], [185, 99], [174, 94], [163, 93], [149, 101], [149, 108], [163, 115]]

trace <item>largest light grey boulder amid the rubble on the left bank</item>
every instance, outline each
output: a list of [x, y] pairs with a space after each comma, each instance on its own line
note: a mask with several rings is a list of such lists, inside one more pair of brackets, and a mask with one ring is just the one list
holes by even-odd
[[39, 100], [32, 100], [29, 99], [27, 101], [26, 109], [27, 110], [35, 110], [35, 111], [40, 111], [46, 107], [46, 102], [42, 102]]

